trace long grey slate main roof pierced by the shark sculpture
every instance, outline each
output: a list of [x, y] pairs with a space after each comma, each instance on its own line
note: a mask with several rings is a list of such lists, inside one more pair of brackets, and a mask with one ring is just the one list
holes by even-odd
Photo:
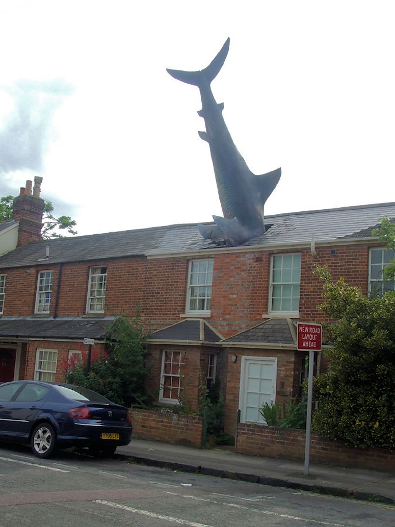
[[[242, 247], [270, 249], [307, 245], [310, 244], [312, 236], [317, 244], [359, 239], [361, 236], [370, 238], [371, 229], [385, 216], [395, 217], [395, 203], [266, 216], [265, 223], [271, 227], [263, 235], [244, 243]], [[47, 246], [50, 252], [48, 258]], [[125, 256], [153, 257], [200, 251], [204, 253], [205, 250], [215, 251], [218, 247], [215, 242], [201, 237], [196, 223], [187, 223], [27, 243], [0, 257], [0, 268]]]

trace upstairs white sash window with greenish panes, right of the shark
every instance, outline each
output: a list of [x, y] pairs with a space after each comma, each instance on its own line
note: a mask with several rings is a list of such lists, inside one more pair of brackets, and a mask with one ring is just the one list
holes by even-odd
[[301, 255], [274, 255], [270, 272], [269, 313], [297, 315]]

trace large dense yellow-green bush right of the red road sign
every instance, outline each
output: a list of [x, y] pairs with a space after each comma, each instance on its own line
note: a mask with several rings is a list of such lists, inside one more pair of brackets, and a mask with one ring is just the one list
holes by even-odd
[[333, 349], [328, 373], [314, 379], [319, 402], [312, 427], [359, 447], [395, 447], [395, 292], [366, 298], [343, 278], [332, 283], [326, 268], [325, 325]]

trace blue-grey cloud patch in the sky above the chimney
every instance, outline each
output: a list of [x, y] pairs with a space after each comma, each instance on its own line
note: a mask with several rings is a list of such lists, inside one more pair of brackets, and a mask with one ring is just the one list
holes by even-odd
[[0, 123], [0, 174], [17, 170], [41, 172], [51, 138], [55, 110], [73, 87], [62, 79], [18, 81], [0, 87], [14, 107]]

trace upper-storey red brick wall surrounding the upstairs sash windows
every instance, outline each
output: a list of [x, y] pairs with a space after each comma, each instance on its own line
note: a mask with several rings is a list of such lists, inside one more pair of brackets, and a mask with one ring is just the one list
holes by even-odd
[[[43, 257], [44, 252], [43, 245]], [[270, 258], [274, 252], [287, 251], [229, 252], [214, 256], [209, 321], [224, 337], [259, 324], [262, 315], [268, 313]], [[349, 284], [366, 292], [368, 245], [319, 247], [317, 258], [313, 258], [308, 249], [292, 252], [302, 254], [302, 320], [324, 320], [322, 313], [317, 310], [322, 284], [312, 276], [314, 264], [327, 264], [333, 278], [344, 276]], [[149, 331], [169, 326], [180, 321], [180, 314], [185, 313], [188, 263], [186, 257], [157, 260], [131, 257], [65, 263], [61, 269], [57, 315], [84, 315], [90, 267], [106, 266], [106, 315], [132, 315], [139, 308]], [[37, 274], [45, 269], [54, 272], [51, 315], [54, 314], [60, 266], [43, 263], [28, 269], [0, 269], [0, 272], [7, 274], [4, 316], [34, 313]]]

